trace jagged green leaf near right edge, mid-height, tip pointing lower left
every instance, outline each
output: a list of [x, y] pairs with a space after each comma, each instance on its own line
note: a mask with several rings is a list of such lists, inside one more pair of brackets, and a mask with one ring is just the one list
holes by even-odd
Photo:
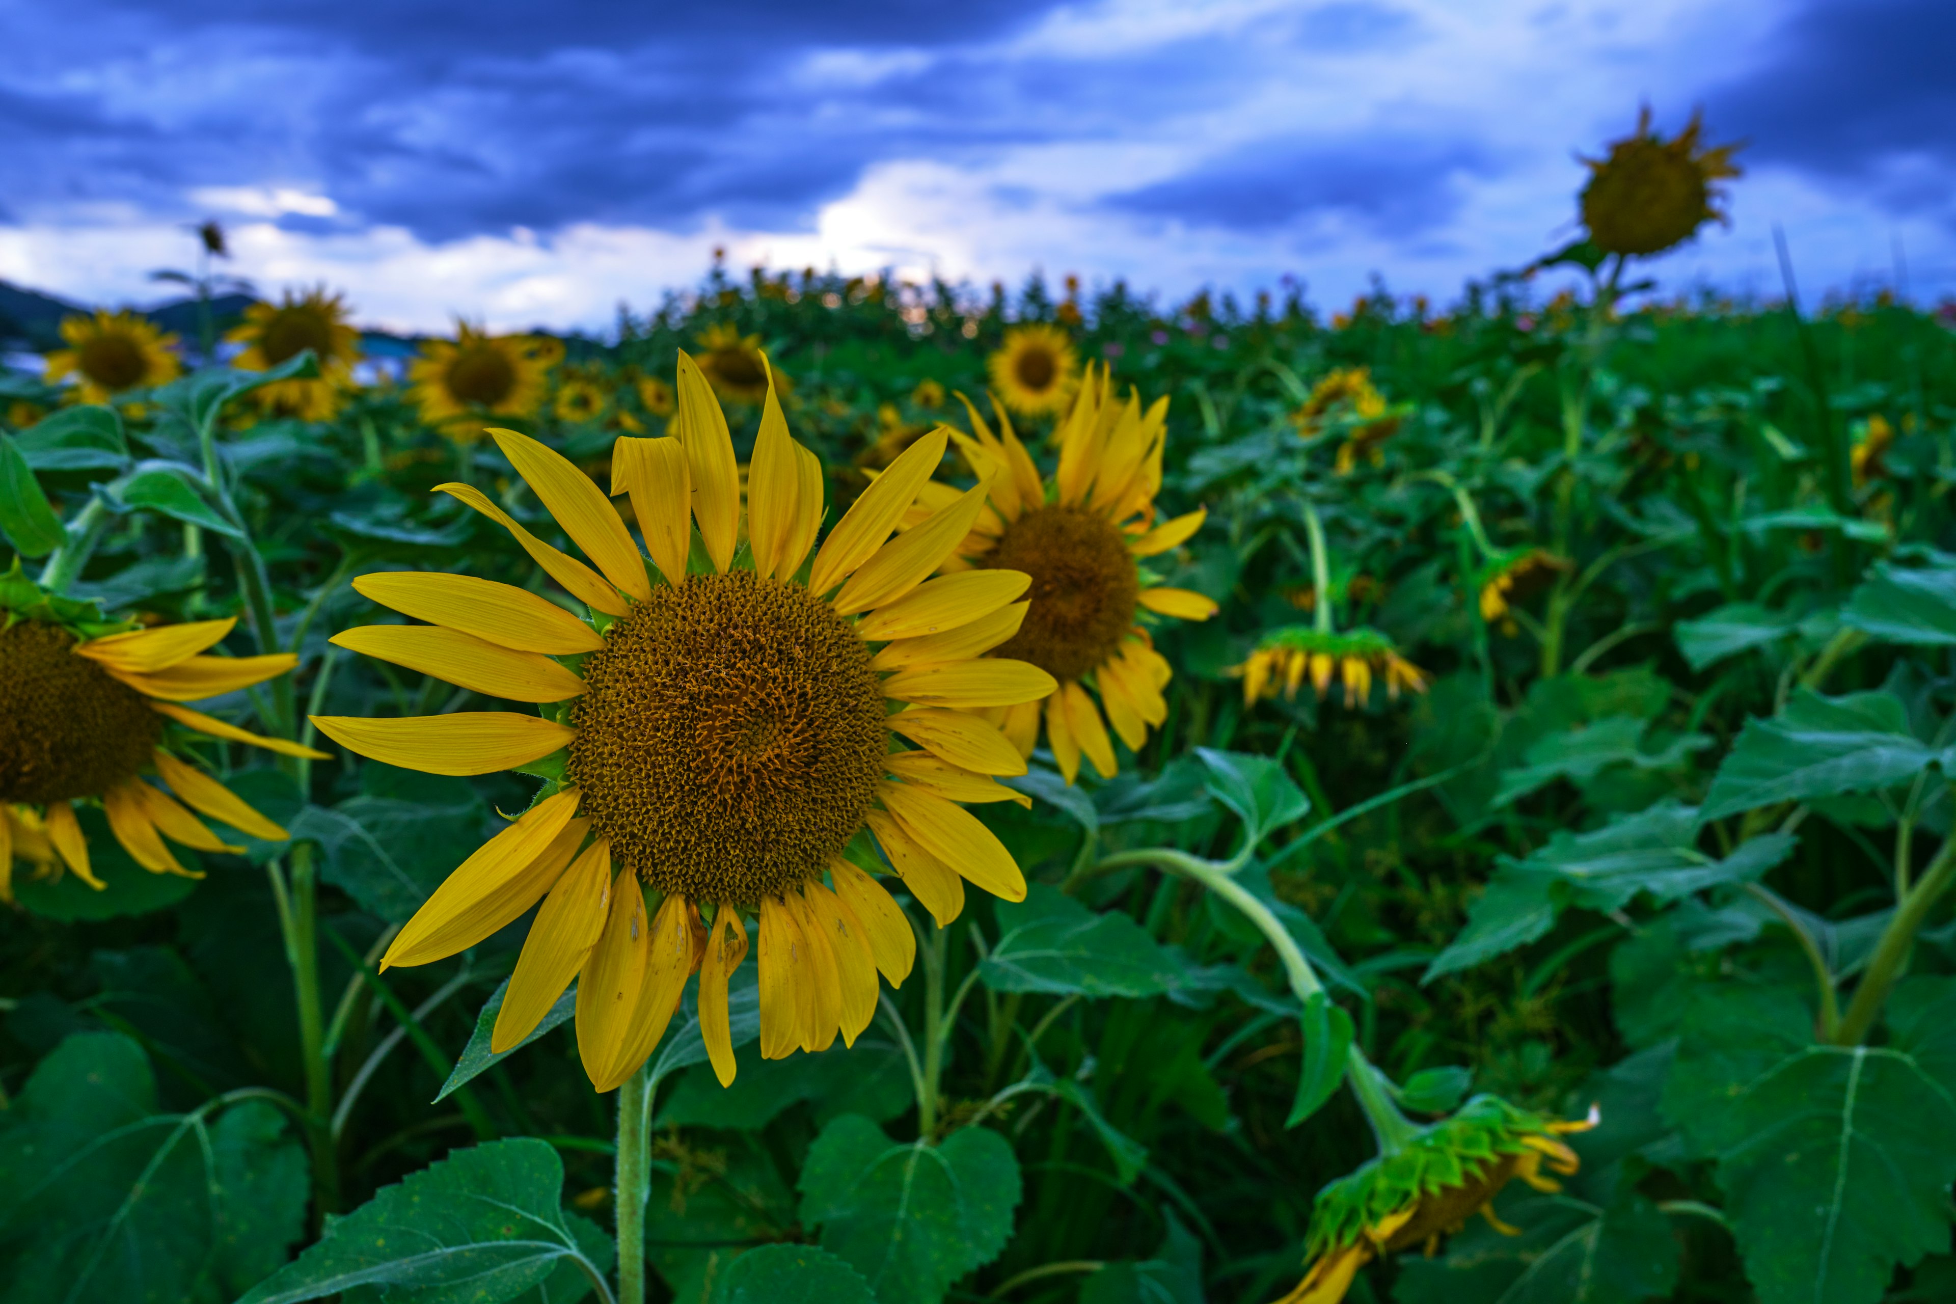
[[1704, 817], [1758, 805], [1876, 792], [1919, 774], [1936, 753], [1909, 733], [1891, 692], [1823, 698], [1801, 688], [1772, 719], [1749, 719], [1712, 780]]

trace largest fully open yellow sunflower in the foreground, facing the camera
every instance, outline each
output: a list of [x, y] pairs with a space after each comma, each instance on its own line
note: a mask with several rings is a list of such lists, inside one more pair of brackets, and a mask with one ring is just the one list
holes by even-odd
[[612, 452], [612, 489], [632, 497], [651, 569], [597, 485], [511, 430], [489, 434], [595, 571], [479, 491], [440, 485], [505, 526], [589, 622], [464, 575], [354, 581], [432, 624], [336, 643], [542, 714], [317, 721], [387, 764], [544, 776], [536, 804], [428, 897], [383, 964], [452, 956], [542, 901], [493, 1044], [528, 1036], [577, 978], [577, 1046], [600, 1091], [651, 1054], [694, 968], [708, 1056], [734, 1079], [728, 974], [755, 915], [761, 1054], [822, 1050], [837, 1032], [853, 1042], [876, 1011], [876, 972], [898, 983], [913, 960], [908, 921], [865, 872], [882, 872], [870, 837], [939, 925], [962, 909], [960, 874], [1021, 899], [1019, 866], [958, 802], [1017, 800], [992, 776], [1025, 762], [968, 712], [1052, 692], [1037, 667], [978, 659], [1025, 620], [1023, 575], [925, 579], [970, 530], [984, 487], [886, 542], [943, 457], [943, 432], [808, 561], [822, 467], [773, 391], [745, 512], [726, 416], [687, 354], [673, 428]]

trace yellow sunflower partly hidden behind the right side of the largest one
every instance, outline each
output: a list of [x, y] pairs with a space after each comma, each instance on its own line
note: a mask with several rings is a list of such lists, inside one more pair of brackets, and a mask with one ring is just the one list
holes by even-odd
[[[1166, 553], [1201, 530], [1209, 508], [1154, 524], [1154, 495], [1162, 487], [1162, 444], [1168, 399], [1146, 413], [1131, 389], [1113, 395], [1105, 369], [1088, 368], [1080, 399], [1058, 430], [1060, 467], [1052, 481], [1039, 475], [1003, 409], [994, 405], [994, 436], [970, 399], [976, 438], [953, 434], [966, 461], [990, 485], [990, 506], [972, 522], [945, 569], [1007, 569], [1033, 577], [1031, 612], [1001, 657], [1019, 657], [1056, 680], [1045, 696], [1046, 741], [1066, 782], [1086, 755], [1101, 776], [1115, 774], [1107, 721], [1131, 749], [1148, 741], [1148, 725], [1168, 719], [1168, 661], [1154, 651], [1144, 624], [1152, 616], [1209, 620], [1217, 604], [1187, 588], [1152, 583], [1140, 559]], [[956, 489], [929, 485], [911, 520], [941, 510]], [[1099, 694], [1099, 708], [1093, 696]], [[1039, 743], [1041, 702], [994, 712], [1021, 757]]]

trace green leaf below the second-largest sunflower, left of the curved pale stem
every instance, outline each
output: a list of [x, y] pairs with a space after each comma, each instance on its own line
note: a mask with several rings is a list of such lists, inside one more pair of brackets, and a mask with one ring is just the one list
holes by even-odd
[[978, 964], [994, 991], [1150, 997], [1183, 978], [1174, 952], [1121, 911], [1093, 913], [1056, 888], [1033, 884], [1025, 901], [998, 901], [1000, 938]]

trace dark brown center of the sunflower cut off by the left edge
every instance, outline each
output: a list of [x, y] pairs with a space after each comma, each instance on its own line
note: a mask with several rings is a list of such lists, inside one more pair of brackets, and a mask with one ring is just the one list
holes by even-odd
[[162, 716], [86, 657], [67, 630], [31, 620], [0, 633], [0, 802], [92, 798], [135, 778]]

